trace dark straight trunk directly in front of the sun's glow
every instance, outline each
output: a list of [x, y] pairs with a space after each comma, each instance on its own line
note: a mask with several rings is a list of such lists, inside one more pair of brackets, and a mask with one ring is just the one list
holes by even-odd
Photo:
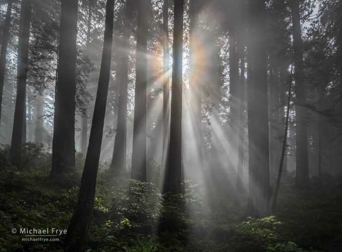
[[164, 192], [182, 193], [182, 46], [184, 0], [174, 0], [173, 65], [171, 89], [171, 120], [169, 165], [165, 173]]

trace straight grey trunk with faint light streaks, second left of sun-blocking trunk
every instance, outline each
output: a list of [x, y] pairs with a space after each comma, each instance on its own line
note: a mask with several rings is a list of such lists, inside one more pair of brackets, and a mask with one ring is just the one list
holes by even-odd
[[146, 181], [147, 33], [150, 0], [138, 3], [137, 56], [131, 179]]

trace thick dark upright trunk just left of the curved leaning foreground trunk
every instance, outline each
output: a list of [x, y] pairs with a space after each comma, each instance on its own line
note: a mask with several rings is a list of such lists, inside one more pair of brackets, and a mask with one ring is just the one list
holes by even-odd
[[75, 167], [77, 0], [62, 0], [51, 179]]

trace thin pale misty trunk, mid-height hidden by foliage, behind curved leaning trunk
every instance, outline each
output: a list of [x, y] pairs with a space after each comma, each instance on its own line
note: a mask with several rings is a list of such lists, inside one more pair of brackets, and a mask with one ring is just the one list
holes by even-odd
[[[86, 52], [89, 54], [90, 50], [90, 33], [91, 33], [91, 20], [93, 15], [93, 0], [88, 2], [88, 20], [87, 20], [87, 41], [86, 41]], [[84, 114], [82, 115], [82, 130], [80, 139], [81, 153], [86, 154], [88, 143], [88, 108], [85, 108]]]

